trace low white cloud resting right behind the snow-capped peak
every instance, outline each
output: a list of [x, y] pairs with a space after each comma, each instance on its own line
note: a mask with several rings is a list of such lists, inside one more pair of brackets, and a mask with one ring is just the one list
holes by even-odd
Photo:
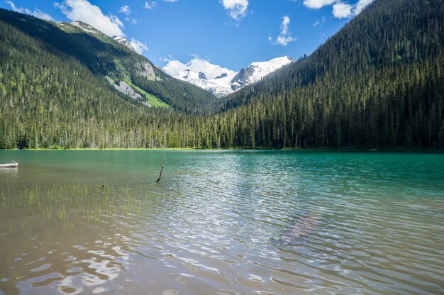
[[182, 62], [179, 62], [179, 60], [172, 60], [171, 57], [165, 58], [163, 60], [167, 62], [167, 65], [162, 69], [172, 77], [177, 77], [186, 69], [191, 69], [197, 73], [203, 72], [207, 79], [214, 79], [223, 73], [228, 75], [235, 74], [231, 69], [226, 69], [220, 65], [213, 65], [209, 60], [204, 60], [198, 55], [193, 56], [194, 58], [187, 62], [187, 64], [183, 64]]

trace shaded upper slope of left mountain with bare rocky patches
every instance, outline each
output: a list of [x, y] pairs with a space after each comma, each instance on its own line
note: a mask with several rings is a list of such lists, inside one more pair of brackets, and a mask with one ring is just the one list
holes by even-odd
[[[37, 52], [50, 52], [55, 57], [73, 57], [106, 84], [110, 84], [108, 81], [118, 84], [130, 80], [135, 86], [152, 94], [151, 99], [163, 101], [187, 113], [199, 113], [212, 107], [214, 97], [211, 94], [173, 79], [145, 57], [128, 48], [128, 45], [121, 44], [122, 40], [113, 40], [87, 23], [53, 23], [4, 9], [0, 10], [0, 20], [15, 28], [18, 34], [26, 34], [38, 43]], [[2, 37], [6, 49], [15, 46], [6, 42], [14, 39], [9, 33], [2, 33]], [[139, 85], [136, 81], [143, 84]], [[164, 91], [154, 94], [158, 87], [162, 87]], [[132, 97], [134, 99], [135, 96]], [[140, 97], [146, 102], [144, 95]]]

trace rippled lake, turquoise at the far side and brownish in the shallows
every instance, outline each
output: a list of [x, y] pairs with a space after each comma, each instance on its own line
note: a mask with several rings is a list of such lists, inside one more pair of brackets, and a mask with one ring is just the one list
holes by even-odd
[[443, 154], [0, 151], [11, 160], [0, 294], [444, 294]]

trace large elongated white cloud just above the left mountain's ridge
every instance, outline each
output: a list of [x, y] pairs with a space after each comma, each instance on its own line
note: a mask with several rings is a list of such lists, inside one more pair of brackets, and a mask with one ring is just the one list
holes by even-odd
[[112, 14], [105, 16], [99, 6], [92, 5], [87, 0], [64, 0], [62, 2], [56, 2], [54, 5], [59, 8], [70, 21], [83, 21], [109, 36], [125, 36], [121, 29], [123, 28], [123, 23], [117, 16], [113, 16]]

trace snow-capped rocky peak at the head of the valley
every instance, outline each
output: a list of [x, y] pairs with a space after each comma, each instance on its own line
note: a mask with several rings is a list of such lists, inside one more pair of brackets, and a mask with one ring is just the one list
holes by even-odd
[[294, 60], [292, 57], [287, 56], [277, 57], [272, 60], [268, 60], [267, 62], [253, 62], [245, 69], [240, 69], [239, 72], [234, 72], [229, 69], [221, 69], [223, 72], [218, 74], [216, 77], [213, 75], [213, 79], [207, 79], [207, 75], [205, 74], [204, 70], [201, 72], [196, 72], [187, 68], [178, 73], [174, 73], [170, 72], [168, 67], [164, 67], [163, 69], [165, 72], [167, 72], [167, 74], [171, 74], [174, 78], [187, 81], [210, 91], [215, 96], [222, 97], [259, 81], [267, 74], [284, 67], [284, 65], [289, 65], [291, 62], [294, 62]]

